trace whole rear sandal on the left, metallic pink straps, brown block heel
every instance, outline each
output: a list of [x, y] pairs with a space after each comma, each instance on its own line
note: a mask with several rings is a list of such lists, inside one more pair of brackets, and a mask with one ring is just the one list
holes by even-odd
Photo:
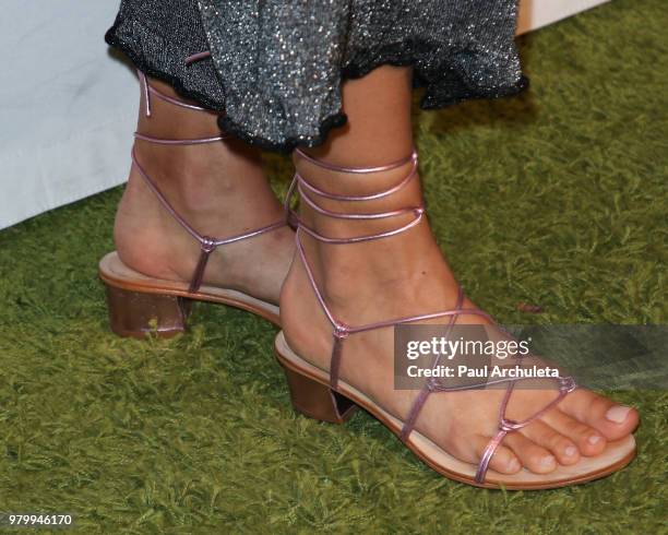
[[[207, 55], [207, 52], [194, 55], [187, 61], [192, 62]], [[205, 108], [160, 93], [148, 83], [148, 80], [142, 72], [139, 72], [139, 76], [144, 94], [144, 112], [146, 117], [152, 116], [152, 96], [181, 108], [210, 112]], [[159, 145], [182, 146], [218, 143], [226, 136], [216, 135], [190, 140], [166, 140], [135, 132], [134, 138]], [[176, 222], [183, 227], [190, 236], [198, 240], [201, 253], [190, 283], [146, 276], [126, 265], [116, 251], [106, 254], [99, 262], [99, 277], [105, 283], [107, 289], [107, 304], [111, 330], [120, 336], [145, 337], [150, 332], [162, 337], [175, 335], [186, 330], [193, 301], [210, 301], [228, 305], [253, 312], [271, 321], [275, 325], [281, 325], [278, 307], [276, 305], [236, 289], [204, 285], [202, 284], [202, 280], [208, 258], [216, 248], [254, 238], [255, 236], [281, 228], [287, 224], [287, 218], [283, 218], [272, 225], [227, 238], [204, 236], [188, 224], [174, 206], [171, 206], [157, 188], [156, 183], [151, 179], [145, 168], [138, 160], [134, 148], [132, 148], [132, 164], [144, 179], [146, 186], [155, 193], [165, 210], [171, 214]]]

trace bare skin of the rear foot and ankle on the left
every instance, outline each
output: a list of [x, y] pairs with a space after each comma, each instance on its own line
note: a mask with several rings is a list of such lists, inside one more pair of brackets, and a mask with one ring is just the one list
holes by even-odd
[[[175, 96], [166, 84], [159, 92]], [[142, 96], [142, 98], [144, 98]], [[140, 107], [138, 131], [162, 139], [219, 135], [216, 116], [152, 98], [152, 115]], [[164, 146], [135, 141], [136, 159], [176, 211], [201, 235], [226, 238], [284, 218], [270, 188], [259, 151], [232, 139], [216, 143]], [[165, 210], [136, 166], [119, 204], [114, 233], [121, 261], [145, 275], [190, 282], [200, 243]], [[284, 226], [217, 248], [204, 284], [237, 289], [277, 304], [294, 252], [294, 233]]]

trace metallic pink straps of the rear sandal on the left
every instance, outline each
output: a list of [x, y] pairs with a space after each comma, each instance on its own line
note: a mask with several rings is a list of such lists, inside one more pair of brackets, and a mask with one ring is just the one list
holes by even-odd
[[[210, 56], [210, 52], [195, 54], [195, 55], [190, 56], [189, 58], [187, 58], [186, 62], [187, 62], [187, 64], [190, 64], [190, 63], [192, 63], [194, 61], [198, 61], [200, 59], [204, 59], [204, 58], [206, 58], [208, 56]], [[190, 103], [183, 102], [183, 100], [181, 100], [179, 98], [175, 98], [175, 97], [169, 96], [169, 95], [165, 95], [164, 93], [162, 93], [157, 88], [153, 87], [148, 83], [148, 79], [146, 78], [146, 75], [143, 72], [138, 71], [138, 74], [139, 74], [139, 79], [140, 79], [140, 83], [141, 83], [141, 87], [142, 87], [142, 93], [144, 95], [144, 114], [145, 114], [145, 116], [147, 118], [153, 117], [152, 105], [151, 105], [152, 96], [155, 96], [155, 97], [159, 98], [160, 100], [164, 100], [164, 102], [166, 102], [168, 104], [171, 104], [174, 106], [178, 106], [178, 107], [181, 107], [181, 108], [192, 109], [192, 110], [195, 110], [195, 111], [203, 111], [203, 112], [207, 112], [207, 114], [214, 114], [214, 111], [211, 111], [211, 110], [208, 110], [206, 108], [203, 108], [201, 106], [196, 106], [194, 104], [190, 104]], [[176, 140], [171, 140], [171, 139], [164, 139], [164, 138], [154, 138], [152, 135], [146, 135], [146, 134], [142, 134], [140, 132], [134, 132], [134, 138], [138, 139], [138, 140], [142, 140], [142, 141], [145, 141], [145, 142], [148, 142], [148, 143], [158, 144], [158, 145], [183, 146], [183, 145], [201, 145], [201, 144], [207, 144], [207, 143], [217, 143], [217, 142], [220, 142], [220, 141], [227, 139], [227, 135], [222, 134], [222, 135], [214, 135], [214, 136], [208, 136], [208, 138], [176, 139]], [[211, 236], [202, 235], [199, 231], [196, 231], [192, 227], [192, 225], [190, 225], [176, 211], [176, 209], [169, 203], [169, 201], [167, 201], [167, 199], [165, 198], [163, 192], [159, 190], [159, 188], [157, 187], [155, 181], [148, 176], [148, 173], [146, 173], [146, 169], [139, 162], [139, 159], [136, 157], [136, 151], [135, 151], [134, 147], [132, 147], [131, 155], [132, 155], [132, 164], [134, 165], [134, 167], [139, 171], [140, 176], [144, 179], [144, 181], [146, 182], [148, 188], [153, 191], [155, 197], [158, 199], [158, 201], [160, 202], [163, 207], [176, 219], [176, 222], [181, 227], [183, 227], [186, 229], [186, 231], [188, 231], [188, 234], [190, 234], [190, 236], [192, 236], [200, 243], [200, 258], [198, 259], [198, 263], [195, 265], [195, 269], [194, 269], [193, 274], [191, 276], [190, 285], [188, 287], [188, 292], [191, 293], [191, 294], [195, 293], [195, 292], [198, 292], [200, 289], [200, 287], [202, 285], [202, 281], [204, 278], [204, 271], [206, 270], [206, 264], [208, 262], [211, 253], [213, 251], [215, 251], [218, 247], [225, 246], [225, 245], [228, 245], [228, 243], [234, 243], [236, 241], [240, 241], [240, 240], [243, 240], [243, 239], [253, 238], [255, 236], [260, 236], [261, 234], [269, 233], [269, 231], [274, 230], [276, 228], [281, 228], [281, 227], [283, 227], [283, 226], [285, 226], [287, 224], [286, 221], [281, 219], [281, 221], [278, 221], [276, 223], [271, 224], [271, 225], [265, 225], [265, 226], [257, 228], [254, 230], [250, 230], [248, 233], [238, 234], [236, 236], [230, 236], [228, 238], [214, 238], [214, 237], [211, 237]]]

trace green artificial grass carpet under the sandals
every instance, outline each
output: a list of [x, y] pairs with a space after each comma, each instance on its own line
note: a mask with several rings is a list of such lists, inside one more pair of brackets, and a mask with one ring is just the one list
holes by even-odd
[[[667, 23], [664, 0], [616, 0], [520, 40], [530, 92], [416, 110], [431, 222], [499, 321], [667, 322]], [[283, 190], [286, 160], [269, 165]], [[0, 233], [0, 510], [71, 512], [81, 533], [666, 533], [666, 392], [615, 394], [643, 417], [621, 473], [490, 491], [366, 414], [296, 416], [250, 314], [199, 306], [188, 335], [115, 337], [96, 262], [120, 194]]]

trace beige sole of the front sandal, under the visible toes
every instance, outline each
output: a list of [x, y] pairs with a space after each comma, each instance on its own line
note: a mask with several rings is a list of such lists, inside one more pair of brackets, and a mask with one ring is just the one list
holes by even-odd
[[[284, 367], [329, 387], [330, 373], [293, 352], [285, 341], [283, 331], [276, 336], [275, 350], [278, 361]], [[402, 420], [385, 412], [355, 387], [339, 380], [336, 392], [365, 408], [396, 436], [401, 435]], [[479, 484], [475, 480], [475, 465], [455, 459], [418, 431], [410, 433], [406, 445], [431, 468], [450, 479], [476, 487], [509, 490], [549, 489], [599, 479], [628, 465], [636, 451], [635, 439], [630, 435], [624, 439], [609, 442], [604, 452], [595, 457], [582, 457], [571, 466], [560, 465], [550, 474], [534, 474], [524, 468], [517, 474], [505, 475], [490, 469], [485, 483]]]

